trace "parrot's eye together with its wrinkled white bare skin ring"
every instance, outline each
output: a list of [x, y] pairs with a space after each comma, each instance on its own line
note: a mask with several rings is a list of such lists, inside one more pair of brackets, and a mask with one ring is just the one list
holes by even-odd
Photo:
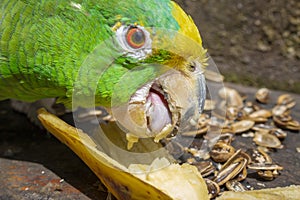
[[116, 39], [130, 57], [144, 59], [152, 52], [150, 33], [142, 26], [123, 25], [116, 30]]

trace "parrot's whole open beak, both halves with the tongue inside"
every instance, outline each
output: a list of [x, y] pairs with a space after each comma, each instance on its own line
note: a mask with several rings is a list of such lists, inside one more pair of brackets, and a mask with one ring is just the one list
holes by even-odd
[[[130, 138], [153, 137], [155, 142], [194, 131], [206, 98], [203, 68], [170, 69], [139, 88], [130, 98], [124, 123]], [[124, 112], [123, 112], [124, 113]], [[135, 139], [134, 139], [135, 140]]]

